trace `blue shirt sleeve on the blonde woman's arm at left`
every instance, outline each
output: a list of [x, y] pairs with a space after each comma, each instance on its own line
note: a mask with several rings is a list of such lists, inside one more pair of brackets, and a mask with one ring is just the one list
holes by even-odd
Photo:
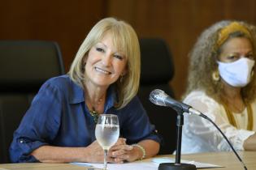
[[31, 152], [49, 145], [58, 134], [63, 93], [51, 83], [44, 83], [34, 97], [20, 126], [15, 130], [10, 147], [13, 163], [36, 162]]

